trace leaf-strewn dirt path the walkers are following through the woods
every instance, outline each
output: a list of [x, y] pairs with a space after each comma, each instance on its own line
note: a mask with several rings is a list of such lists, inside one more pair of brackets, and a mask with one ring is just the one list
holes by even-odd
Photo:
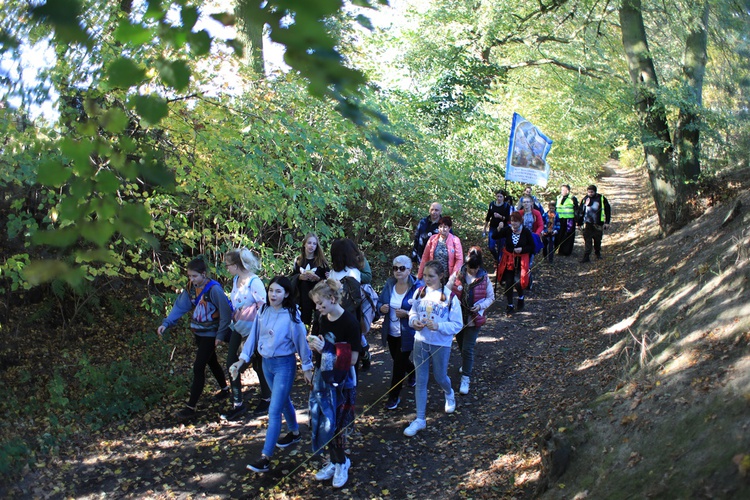
[[[300, 376], [292, 397], [303, 439], [277, 449], [266, 474], [245, 468], [260, 456], [266, 417], [222, 423], [218, 414], [223, 406], [206, 402], [195, 421], [178, 424], [172, 417], [179, 409], [176, 401], [173, 407], [108, 427], [86, 446], [61, 450], [4, 493], [178, 499], [537, 496], [547, 482], [542, 436], [588, 420], [593, 400], [626, 383], [636, 353], [625, 349], [602, 355], [628, 335], [609, 333], [613, 330], [608, 327], [650, 299], [643, 294], [624, 300], [634, 284], [634, 270], [618, 257], [634, 242], [655, 241], [647, 180], [642, 172], [612, 163], [597, 184], [613, 207], [603, 259], [578, 262], [583, 247], [578, 233], [573, 256], [556, 256], [554, 263], [539, 258], [526, 309], [506, 317], [505, 300], [498, 297], [489, 310], [476, 347], [470, 393], [458, 394], [460, 354], [454, 347], [449, 376], [457, 409], [444, 413], [444, 398], [430, 380], [427, 428], [414, 437], [403, 435], [415, 416], [414, 390], [402, 391], [397, 410], [384, 407], [391, 360], [380, 346], [379, 327], [374, 328], [369, 334], [373, 363], [361, 374], [357, 390], [358, 416], [349, 443], [352, 467], [342, 489], [313, 477], [321, 462], [310, 453], [307, 390]], [[649, 217], [651, 226], [644, 226]], [[251, 399], [252, 374], [246, 380]]]

